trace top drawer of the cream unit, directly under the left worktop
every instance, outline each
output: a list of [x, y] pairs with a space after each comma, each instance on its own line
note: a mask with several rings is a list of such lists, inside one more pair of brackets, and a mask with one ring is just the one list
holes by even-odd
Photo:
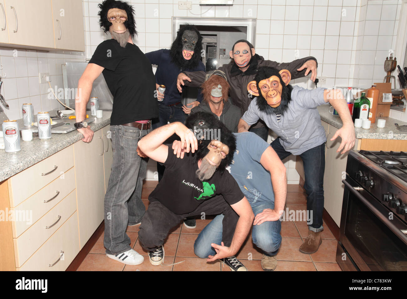
[[73, 146], [68, 146], [11, 177], [11, 207], [19, 205], [72, 166], [74, 166]]

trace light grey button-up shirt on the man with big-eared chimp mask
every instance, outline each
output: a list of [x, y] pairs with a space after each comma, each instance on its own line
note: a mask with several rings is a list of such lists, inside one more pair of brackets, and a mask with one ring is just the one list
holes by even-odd
[[309, 149], [326, 142], [324, 127], [321, 124], [317, 107], [326, 104], [326, 88], [305, 89], [293, 86], [291, 102], [287, 111], [277, 121], [275, 114], [267, 115], [260, 111], [256, 98], [252, 100], [242, 119], [252, 125], [262, 119], [279, 137], [282, 147], [293, 155], [301, 155]]

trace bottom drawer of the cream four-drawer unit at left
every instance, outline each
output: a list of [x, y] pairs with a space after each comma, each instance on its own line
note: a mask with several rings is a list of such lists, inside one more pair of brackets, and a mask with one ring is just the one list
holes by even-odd
[[[61, 252], [63, 251], [63, 255]], [[79, 252], [78, 213], [66, 222], [18, 271], [65, 271]], [[59, 259], [60, 258], [60, 259]], [[49, 265], [54, 264], [50, 267]]]

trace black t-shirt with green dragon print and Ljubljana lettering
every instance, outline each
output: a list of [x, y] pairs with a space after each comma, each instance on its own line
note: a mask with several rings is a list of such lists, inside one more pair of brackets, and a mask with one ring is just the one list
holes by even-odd
[[195, 175], [198, 164], [194, 162], [194, 157], [191, 154], [185, 154], [184, 159], [177, 158], [171, 145], [168, 146], [168, 157], [164, 166], [164, 176], [151, 192], [149, 199], [160, 201], [175, 214], [190, 213], [204, 200], [216, 194], [222, 194], [230, 205], [241, 201], [244, 197], [228, 171], [221, 174], [217, 170], [208, 181], [200, 181]]

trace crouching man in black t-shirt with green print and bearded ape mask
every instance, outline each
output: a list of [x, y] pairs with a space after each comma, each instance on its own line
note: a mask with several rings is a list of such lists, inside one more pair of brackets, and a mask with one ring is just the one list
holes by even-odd
[[[188, 127], [194, 129], [199, 142]], [[182, 160], [173, 154], [171, 146], [162, 144], [174, 133], [186, 147]], [[216, 254], [207, 261], [219, 259], [233, 271], [247, 270], [234, 255], [249, 233], [254, 214], [236, 181], [225, 171], [235, 149], [235, 137], [209, 113], [195, 113], [187, 118], [186, 126], [181, 122], [167, 124], [138, 142], [140, 155], [144, 153], [166, 167], [162, 180], [149, 196], [150, 205], [138, 232], [151, 264], [164, 261], [164, 240], [184, 218], [223, 214], [221, 244], [210, 244]]]

